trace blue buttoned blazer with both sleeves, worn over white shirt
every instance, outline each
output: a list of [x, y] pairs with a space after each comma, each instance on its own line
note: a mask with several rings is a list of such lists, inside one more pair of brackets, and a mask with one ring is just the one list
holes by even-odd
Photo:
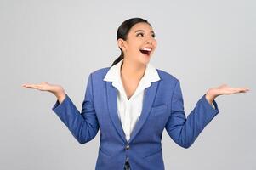
[[156, 69], [161, 79], [145, 88], [139, 121], [127, 141], [117, 115], [117, 88], [103, 80], [110, 68], [89, 74], [81, 112], [67, 94], [61, 104], [57, 100], [52, 108], [80, 144], [94, 139], [100, 128], [97, 170], [122, 170], [126, 157], [132, 170], [162, 170], [163, 130], [176, 144], [189, 148], [219, 113], [216, 101], [214, 109], [203, 94], [186, 118], [179, 80]]

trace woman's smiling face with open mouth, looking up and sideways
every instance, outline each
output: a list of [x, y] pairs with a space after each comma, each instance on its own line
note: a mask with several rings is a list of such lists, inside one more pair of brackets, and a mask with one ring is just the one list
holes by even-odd
[[147, 64], [156, 49], [155, 33], [145, 22], [135, 24], [128, 32], [126, 41], [118, 42], [124, 57], [133, 62]]

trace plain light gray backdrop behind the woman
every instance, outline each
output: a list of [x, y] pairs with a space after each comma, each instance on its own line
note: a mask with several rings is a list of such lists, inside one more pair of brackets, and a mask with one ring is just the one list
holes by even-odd
[[94, 169], [100, 132], [79, 144], [52, 111], [54, 95], [21, 84], [60, 84], [81, 111], [89, 73], [117, 59], [117, 27], [131, 17], [151, 22], [151, 64], [179, 78], [186, 116], [208, 88], [251, 89], [219, 96], [219, 115], [189, 149], [164, 131], [166, 169], [255, 169], [255, 8], [253, 0], [1, 0], [0, 169]]

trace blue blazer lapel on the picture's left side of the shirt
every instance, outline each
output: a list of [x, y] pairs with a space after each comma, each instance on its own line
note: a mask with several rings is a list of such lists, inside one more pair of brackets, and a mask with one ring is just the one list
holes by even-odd
[[114, 127], [117, 129], [117, 133], [119, 133], [122, 140], [127, 143], [125, 133], [122, 130], [122, 124], [117, 114], [117, 88], [113, 87], [111, 83], [112, 82], [106, 82], [107, 105], [109, 114], [111, 116], [111, 121], [114, 124]]

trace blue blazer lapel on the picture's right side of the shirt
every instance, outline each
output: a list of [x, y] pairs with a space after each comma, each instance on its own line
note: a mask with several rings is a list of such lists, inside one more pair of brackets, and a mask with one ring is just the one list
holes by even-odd
[[157, 89], [158, 82], [159, 81], [151, 82], [151, 86], [148, 88], [145, 88], [145, 96], [143, 99], [141, 115], [139, 116], [139, 121], [135, 124], [134, 130], [131, 134], [131, 137], [128, 143], [130, 143], [134, 139], [134, 137], [137, 135], [137, 133], [139, 133], [139, 130], [144, 125], [147, 117], [150, 114], [151, 106], [153, 105], [153, 101], [156, 96], [156, 89]]

